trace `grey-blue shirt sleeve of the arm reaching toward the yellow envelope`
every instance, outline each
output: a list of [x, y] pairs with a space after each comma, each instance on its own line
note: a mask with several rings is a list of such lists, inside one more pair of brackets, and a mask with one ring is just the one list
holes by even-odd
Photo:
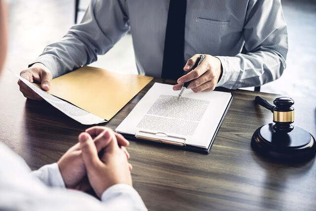
[[120, 0], [91, 0], [81, 23], [46, 46], [32, 64], [44, 64], [55, 78], [97, 60], [127, 32], [123, 8]]

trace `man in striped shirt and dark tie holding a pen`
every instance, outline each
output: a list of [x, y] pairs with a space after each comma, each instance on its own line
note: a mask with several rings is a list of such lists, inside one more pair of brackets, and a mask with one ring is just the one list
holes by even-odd
[[[280, 0], [91, 0], [80, 24], [45, 47], [21, 76], [49, 82], [97, 59], [131, 32], [138, 73], [192, 81], [193, 91], [236, 89], [278, 79], [288, 49]], [[202, 63], [191, 70], [198, 55]], [[39, 96], [19, 82], [29, 98]]]

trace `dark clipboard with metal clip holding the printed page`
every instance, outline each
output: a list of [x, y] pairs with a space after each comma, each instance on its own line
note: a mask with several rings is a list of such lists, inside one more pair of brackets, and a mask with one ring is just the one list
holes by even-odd
[[219, 131], [224, 119], [225, 119], [225, 116], [226, 116], [231, 104], [232, 104], [233, 98], [234, 98], [234, 95], [231, 95], [229, 103], [226, 106], [225, 112], [222, 115], [222, 117], [218, 123], [218, 126], [216, 127], [216, 131], [213, 134], [213, 136], [211, 137], [211, 141], [210, 141], [207, 148], [189, 145], [186, 143], [185, 137], [168, 135], [165, 132], [153, 133], [151, 131], [146, 131], [146, 130], [142, 129], [142, 130], [139, 130], [138, 132], [136, 132], [135, 135], [127, 134], [127, 133], [121, 133], [121, 134], [126, 139], [130, 139], [130, 140], [154, 143], [157, 146], [165, 145], [165, 146], [173, 147], [176, 149], [182, 149], [182, 150], [197, 152], [197, 153], [201, 153], [201, 154], [209, 154], [211, 147], [214, 143], [214, 140], [218, 134], [218, 131]]

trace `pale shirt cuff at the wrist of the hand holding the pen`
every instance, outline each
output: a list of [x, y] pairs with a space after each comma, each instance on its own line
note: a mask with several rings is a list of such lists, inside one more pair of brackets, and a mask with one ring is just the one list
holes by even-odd
[[218, 58], [223, 67], [223, 75], [217, 86], [222, 86], [228, 89], [234, 89], [236, 81], [240, 73], [240, 59], [231, 56], [215, 56]]

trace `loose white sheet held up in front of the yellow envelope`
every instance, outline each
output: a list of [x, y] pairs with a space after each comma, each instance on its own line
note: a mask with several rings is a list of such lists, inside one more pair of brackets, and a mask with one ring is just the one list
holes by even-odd
[[[9, 70], [12, 72], [11, 70]], [[13, 73], [13, 72], [12, 72]], [[14, 73], [13, 73], [14, 74]], [[104, 123], [105, 120], [101, 117], [95, 116], [81, 108], [62, 100], [54, 95], [47, 93], [46, 91], [40, 89], [36, 85], [30, 83], [28, 80], [14, 74], [17, 78], [19, 78], [24, 84], [28, 85], [33, 91], [35, 91], [40, 97], [42, 97], [49, 104], [57, 108], [59, 111], [66, 114], [68, 117], [76, 120], [82, 125], [95, 125], [99, 123]]]

